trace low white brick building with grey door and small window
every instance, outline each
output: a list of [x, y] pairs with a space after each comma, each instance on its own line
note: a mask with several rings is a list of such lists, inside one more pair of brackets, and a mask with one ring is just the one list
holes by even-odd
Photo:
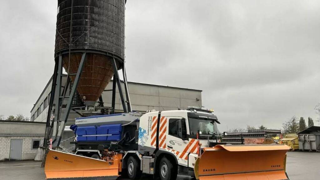
[[44, 130], [45, 122], [0, 120], [0, 160], [34, 159]]

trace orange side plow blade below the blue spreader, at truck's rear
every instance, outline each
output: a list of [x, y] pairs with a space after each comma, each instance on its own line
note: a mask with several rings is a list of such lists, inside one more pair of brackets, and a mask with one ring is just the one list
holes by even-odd
[[113, 160], [98, 160], [49, 150], [45, 160], [46, 179], [116, 179], [121, 169], [122, 154], [115, 154]]

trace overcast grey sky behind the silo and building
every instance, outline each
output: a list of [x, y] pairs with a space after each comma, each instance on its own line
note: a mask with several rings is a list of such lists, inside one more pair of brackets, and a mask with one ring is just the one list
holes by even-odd
[[[128, 0], [128, 80], [203, 90], [220, 131], [316, 119], [319, 9], [318, 0]], [[0, 114], [30, 116], [53, 73], [56, 14], [56, 0], [2, 2]]]

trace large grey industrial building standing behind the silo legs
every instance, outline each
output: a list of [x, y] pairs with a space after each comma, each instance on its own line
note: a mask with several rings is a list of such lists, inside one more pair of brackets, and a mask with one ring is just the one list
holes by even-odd
[[[62, 85], [66, 82], [66, 76], [62, 77]], [[103, 93], [101, 94], [103, 100], [103, 106], [110, 107], [111, 106], [111, 97], [112, 97], [112, 86], [113, 81], [108, 84]], [[34, 122], [46, 122], [48, 115], [48, 103], [50, 99], [50, 92], [52, 88], [52, 78], [50, 78], [49, 82], [45, 86], [44, 90], [40, 94], [36, 103], [32, 107], [31, 113], [31, 121]], [[122, 86], [124, 83], [122, 82]], [[67, 87], [70, 89], [70, 87]], [[62, 87], [62, 91], [63, 91]], [[117, 88], [116, 88], [117, 89]], [[179, 88], [179, 87], [171, 87], [171, 86], [160, 86], [160, 85], [152, 85], [152, 84], [144, 84], [144, 83], [136, 83], [136, 82], [128, 82], [128, 89], [130, 94], [130, 100], [132, 104], [133, 111], [146, 112], [147, 110], [177, 110], [177, 109], [187, 109], [188, 106], [202, 106], [201, 100], [201, 92], [202, 90], [196, 89], [187, 89], [187, 88]], [[69, 91], [67, 91], [68, 95]], [[78, 95], [78, 94], [77, 94]], [[75, 101], [81, 101], [80, 98], [75, 98]], [[64, 101], [66, 102], [66, 101]], [[116, 91], [116, 101], [115, 101], [115, 113], [123, 112], [119, 91]], [[75, 104], [78, 104], [75, 102]], [[63, 113], [62, 109], [62, 113]], [[80, 118], [81, 112], [76, 109], [71, 109], [68, 121], [65, 127], [65, 132], [63, 134], [63, 139], [68, 139], [73, 137], [73, 131], [69, 129], [70, 125], [75, 123], [75, 118]], [[72, 147], [69, 144], [69, 141], [73, 139], [69, 139], [61, 143], [62, 146], [69, 148]]]

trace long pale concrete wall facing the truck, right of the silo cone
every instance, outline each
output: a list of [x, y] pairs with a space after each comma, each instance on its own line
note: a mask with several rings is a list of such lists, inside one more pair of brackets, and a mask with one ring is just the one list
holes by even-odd
[[[132, 110], [177, 110], [187, 109], [188, 106], [201, 106], [201, 91], [188, 90], [176, 87], [165, 87], [156, 85], [147, 85], [141, 83], [129, 83], [130, 101]], [[124, 84], [122, 84], [124, 89]], [[106, 89], [112, 89], [112, 83], [109, 83]], [[102, 99], [104, 106], [111, 106], [111, 91], [104, 91]], [[124, 94], [125, 97], [125, 94]], [[123, 110], [120, 94], [116, 88], [116, 110]]]

